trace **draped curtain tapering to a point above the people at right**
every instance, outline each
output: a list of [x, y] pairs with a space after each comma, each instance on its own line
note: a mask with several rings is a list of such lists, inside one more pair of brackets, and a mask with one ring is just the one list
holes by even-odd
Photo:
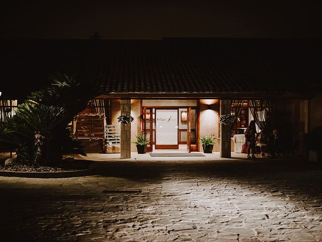
[[271, 100], [249, 100], [248, 106], [254, 117], [257, 126], [263, 130], [268, 125], [271, 118], [272, 101]]

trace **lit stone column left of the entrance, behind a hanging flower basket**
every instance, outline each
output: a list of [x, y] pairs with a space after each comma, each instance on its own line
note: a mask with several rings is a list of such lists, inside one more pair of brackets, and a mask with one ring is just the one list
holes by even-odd
[[[121, 115], [131, 115], [131, 99], [121, 99]], [[131, 158], [131, 123], [121, 123], [121, 158]]]

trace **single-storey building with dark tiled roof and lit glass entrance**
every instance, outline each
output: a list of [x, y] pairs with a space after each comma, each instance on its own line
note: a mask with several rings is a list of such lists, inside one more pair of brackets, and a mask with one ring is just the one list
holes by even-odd
[[[318, 41], [165, 38], [2, 42], [2, 119], [16, 108], [16, 100], [48, 85], [51, 73], [86, 69], [104, 75], [96, 84], [96, 98], [73, 124], [76, 137], [84, 139], [93, 152], [105, 152], [105, 144], [110, 146], [108, 152], [118, 152], [113, 146], [119, 142], [121, 157], [128, 157], [136, 151], [131, 143], [135, 135], [143, 132], [152, 144], [148, 151], [186, 146], [189, 151], [199, 151], [199, 138], [212, 135], [217, 141], [214, 150], [227, 157], [230, 147], [221, 143], [232, 142], [230, 137], [253, 118], [265, 122], [265, 117], [259, 117], [265, 109], [280, 112], [287, 126], [283, 129], [292, 132], [287, 133], [290, 142], [298, 141], [304, 154], [304, 134], [322, 125]], [[232, 130], [221, 127], [220, 113], [239, 111], [236, 103], [241, 100], [240, 122]], [[134, 117], [131, 128], [117, 127], [121, 113]], [[108, 131], [116, 134], [111, 140], [105, 139]], [[122, 134], [120, 141], [118, 133]]]

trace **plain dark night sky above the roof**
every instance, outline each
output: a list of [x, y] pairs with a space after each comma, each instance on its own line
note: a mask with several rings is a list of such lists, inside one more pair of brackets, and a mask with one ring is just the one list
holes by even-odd
[[320, 1], [7, 2], [0, 38], [322, 37]]

